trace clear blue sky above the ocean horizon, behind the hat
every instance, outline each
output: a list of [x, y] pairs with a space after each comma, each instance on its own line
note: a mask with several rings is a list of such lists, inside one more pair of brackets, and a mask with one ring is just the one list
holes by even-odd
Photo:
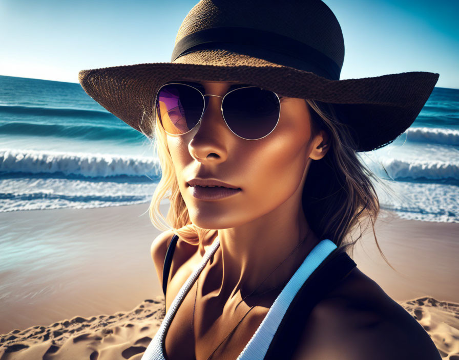
[[[439, 73], [459, 88], [459, 1], [324, 0], [344, 35], [341, 79]], [[169, 62], [196, 0], [0, 0], [0, 75], [78, 82], [78, 71]]]

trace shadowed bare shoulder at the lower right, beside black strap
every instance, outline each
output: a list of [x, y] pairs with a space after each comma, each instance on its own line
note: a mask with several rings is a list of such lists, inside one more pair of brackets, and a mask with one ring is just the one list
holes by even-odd
[[429, 334], [357, 267], [312, 310], [294, 360], [441, 360]]

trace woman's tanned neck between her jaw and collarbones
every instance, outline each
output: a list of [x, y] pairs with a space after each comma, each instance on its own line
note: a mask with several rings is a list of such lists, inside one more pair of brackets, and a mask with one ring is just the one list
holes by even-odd
[[216, 263], [221, 286], [216, 296], [232, 299], [240, 292], [244, 298], [255, 289], [253, 296], [256, 296], [293, 276], [319, 242], [295, 198], [298, 197], [291, 197], [274, 211], [240, 227], [218, 230], [220, 249]]

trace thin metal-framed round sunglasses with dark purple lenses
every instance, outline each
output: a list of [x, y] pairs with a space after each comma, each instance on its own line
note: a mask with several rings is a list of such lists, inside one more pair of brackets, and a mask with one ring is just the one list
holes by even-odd
[[[232, 85], [222, 98], [221, 112], [228, 128], [245, 140], [268, 136], [280, 118], [280, 97], [257, 86]], [[170, 82], [162, 85], [156, 95], [156, 114], [164, 131], [183, 135], [201, 122], [211, 94], [192, 82]]]

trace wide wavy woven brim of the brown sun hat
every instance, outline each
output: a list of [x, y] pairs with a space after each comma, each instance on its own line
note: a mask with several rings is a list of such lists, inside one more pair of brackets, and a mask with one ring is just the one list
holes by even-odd
[[110, 113], [153, 136], [145, 116], [155, 119], [154, 98], [172, 80], [249, 83], [293, 98], [331, 103], [354, 132], [356, 151], [387, 145], [419, 115], [439, 74], [406, 72], [359, 79], [329, 80], [311, 72], [227, 51], [200, 51], [174, 62], [82, 70], [85, 92]]

